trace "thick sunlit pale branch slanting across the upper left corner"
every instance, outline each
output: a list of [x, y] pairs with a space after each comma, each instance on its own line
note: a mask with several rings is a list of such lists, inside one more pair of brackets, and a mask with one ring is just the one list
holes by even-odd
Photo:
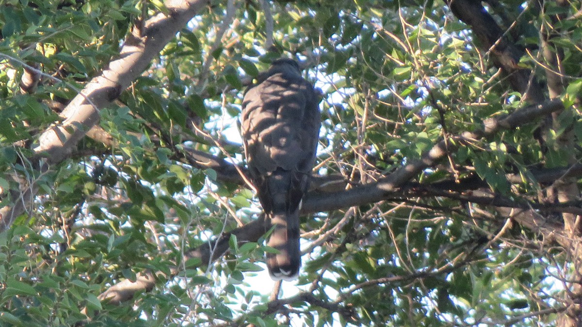
[[[145, 29], [133, 29], [128, 35], [118, 59], [109, 63], [108, 69], [95, 77], [66, 106], [62, 123], [42, 133], [34, 151], [44, 163], [54, 164], [65, 159], [99, 120], [99, 110], [116, 99], [122, 90], [150, 65], [154, 56], [175, 37], [176, 33], [207, 3], [207, 0], [166, 2], [170, 15], [163, 13], [145, 22]], [[0, 209], [0, 231], [9, 228], [16, 217], [25, 210], [37, 193], [38, 186], [31, 184], [21, 194], [12, 198], [12, 207]]]

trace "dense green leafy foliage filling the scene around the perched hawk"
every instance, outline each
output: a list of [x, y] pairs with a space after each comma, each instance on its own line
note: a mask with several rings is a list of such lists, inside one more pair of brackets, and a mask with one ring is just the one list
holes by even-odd
[[[159, 1], [4, 3], [0, 207], [37, 190], [0, 233], [0, 325], [552, 325], [566, 291], [577, 294], [580, 257], [546, 231], [579, 238], [564, 216], [580, 214], [579, 1], [488, 2], [482, 13], [519, 49], [514, 69], [540, 85], [560, 71], [565, 109], [470, 140], [454, 136], [535, 101], [496, 59], [502, 49], [444, 3], [212, 1], [47, 165], [34, 152], [42, 131], [136, 26], [170, 12]], [[542, 47], [562, 54], [559, 69]], [[336, 203], [302, 218], [303, 271], [272, 300], [262, 258], [273, 250], [226, 232], [260, 214], [238, 173], [236, 120], [244, 88], [280, 56], [321, 88], [315, 174], [340, 183], [314, 179], [306, 201]], [[341, 202], [441, 140], [456, 150], [381, 200]], [[560, 171], [574, 178], [566, 201], [551, 191], [565, 173], [545, 177]], [[193, 254], [221, 237], [226, 255]], [[153, 289], [129, 301], [100, 296], [148, 273]]]

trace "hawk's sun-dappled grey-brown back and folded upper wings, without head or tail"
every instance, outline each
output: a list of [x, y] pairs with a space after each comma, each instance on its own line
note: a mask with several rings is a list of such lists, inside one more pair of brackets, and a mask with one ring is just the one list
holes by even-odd
[[242, 131], [251, 174], [277, 168], [309, 174], [320, 128], [317, 95], [301, 77], [274, 74], [243, 100]]

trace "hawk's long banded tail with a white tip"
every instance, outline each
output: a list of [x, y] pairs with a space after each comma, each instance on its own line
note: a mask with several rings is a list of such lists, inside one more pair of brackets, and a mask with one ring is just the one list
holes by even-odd
[[270, 214], [273, 233], [267, 245], [279, 253], [267, 253], [267, 268], [274, 280], [293, 280], [299, 275], [299, 208], [294, 212]]

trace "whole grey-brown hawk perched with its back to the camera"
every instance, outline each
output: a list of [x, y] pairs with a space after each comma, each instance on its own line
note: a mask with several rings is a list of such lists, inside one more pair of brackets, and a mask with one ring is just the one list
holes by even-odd
[[249, 175], [274, 231], [271, 278], [299, 275], [299, 209], [315, 162], [321, 116], [313, 85], [292, 59], [274, 61], [243, 99], [241, 131]]

